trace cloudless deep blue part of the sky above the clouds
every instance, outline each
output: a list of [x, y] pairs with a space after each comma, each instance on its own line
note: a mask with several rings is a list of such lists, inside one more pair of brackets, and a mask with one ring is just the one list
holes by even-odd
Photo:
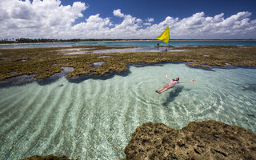
[[[77, 0], [63, 0], [63, 5], [70, 5]], [[101, 14], [101, 17], [111, 17], [114, 22], [122, 22], [113, 17], [113, 10], [121, 9], [123, 13], [131, 14], [136, 18], [154, 18], [154, 22], [162, 22], [166, 16], [186, 18], [198, 12], [205, 12], [206, 16], [224, 13], [224, 18], [241, 11], [252, 13], [256, 18], [255, 0], [86, 0], [88, 7], [82, 13], [85, 17], [92, 14]], [[84, 18], [79, 18], [78, 22]]]

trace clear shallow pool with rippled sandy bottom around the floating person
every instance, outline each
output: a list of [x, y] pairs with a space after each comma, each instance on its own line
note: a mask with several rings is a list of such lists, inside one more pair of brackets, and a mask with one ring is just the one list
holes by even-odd
[[[213, 119], [256, 132], [256, 68], [195, 69], [181, 64], [129, 67], [129, 74], [0, 89], [0, 159], [34, 154], [120, 159], [137, 126], [181, 129]], [[170, 78], [182, 83], [162, 94]]]

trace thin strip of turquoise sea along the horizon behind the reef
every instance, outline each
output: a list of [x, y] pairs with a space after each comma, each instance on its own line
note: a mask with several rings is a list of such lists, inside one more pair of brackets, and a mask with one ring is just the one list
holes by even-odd
[[[55, 42], [33, 44], [0, 45], [0, 48], [34, 48], [34, 47], [58, 47], [58, 46], [81, 46], [81, 45], [110, 45], [110, 46], [154, 46], [160, 41], [114, 41], [114, 42]], [[256, 41], [170, 41], [172, 46], [197, 46], [197, 45], [238, 45], [256, 46]]]

